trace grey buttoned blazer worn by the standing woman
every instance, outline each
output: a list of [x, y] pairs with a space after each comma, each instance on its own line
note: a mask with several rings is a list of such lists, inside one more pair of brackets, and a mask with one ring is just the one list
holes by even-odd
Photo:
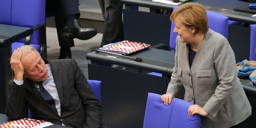
[[229, 128], [251, 115], [251, 105], [236, 76], [235, 55], [221, 34], [208, 30], [193, 64], [189, 65], [190, 44], [176, 38], [175, 67], [167, 94], [174, 97], [184, 87], [184, 100], [203, 107], [201, 128]]

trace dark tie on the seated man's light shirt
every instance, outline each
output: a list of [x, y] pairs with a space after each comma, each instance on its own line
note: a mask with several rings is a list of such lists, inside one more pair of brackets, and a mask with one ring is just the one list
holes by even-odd
[[39, 90], [41, 92], [41, 95], [43, 96], [44, 100], [51, 106], [53, 109], [57, 112], [55, 101], [53, 99], [53, 96], [49, 94], [49, 92], [43, 87], [43, 81], [41, 82], [35, 82], [35, 84], [39, 85]]

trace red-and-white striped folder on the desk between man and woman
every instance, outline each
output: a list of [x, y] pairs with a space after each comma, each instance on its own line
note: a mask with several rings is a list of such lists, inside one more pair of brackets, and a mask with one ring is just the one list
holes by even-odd
[[123, 55], [128, 55], [128, 54], [136, 52], [138, 50], [148, 48], [149, 46], [151, 46], [151, 45], [146, 44], [146, 43], [120, 41], [117, 43], [113, 43], [110, 46], [100, 48], [100, 50], [105, 50], [105, 51], [110, 51], [110, 52], [114, 52], [114, 53], [121, 53]]

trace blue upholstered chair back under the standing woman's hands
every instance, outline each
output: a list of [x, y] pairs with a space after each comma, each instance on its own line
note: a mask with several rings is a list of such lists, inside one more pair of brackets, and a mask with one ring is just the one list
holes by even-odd
[[143, 128], [200, 128], [201, 116], [187, 115], [190, 105], [193, 104], [173, 98], [171, 104], [166, 106], [161, 95], [149, 93]]

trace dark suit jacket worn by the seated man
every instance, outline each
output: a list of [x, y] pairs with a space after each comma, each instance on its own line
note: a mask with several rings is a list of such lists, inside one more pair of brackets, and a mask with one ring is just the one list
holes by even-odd
[[25, 78], [23, 85], [16, 85], [13, 80], [9, 82], [7, 117], [21, 119], [29, 107], [40, 120], [75, 128], [100, 128], [101, 105], [75, 60], [43, 60], [51, 67], [61, 105], [60, 116], [43, 99], [32, 80]]

